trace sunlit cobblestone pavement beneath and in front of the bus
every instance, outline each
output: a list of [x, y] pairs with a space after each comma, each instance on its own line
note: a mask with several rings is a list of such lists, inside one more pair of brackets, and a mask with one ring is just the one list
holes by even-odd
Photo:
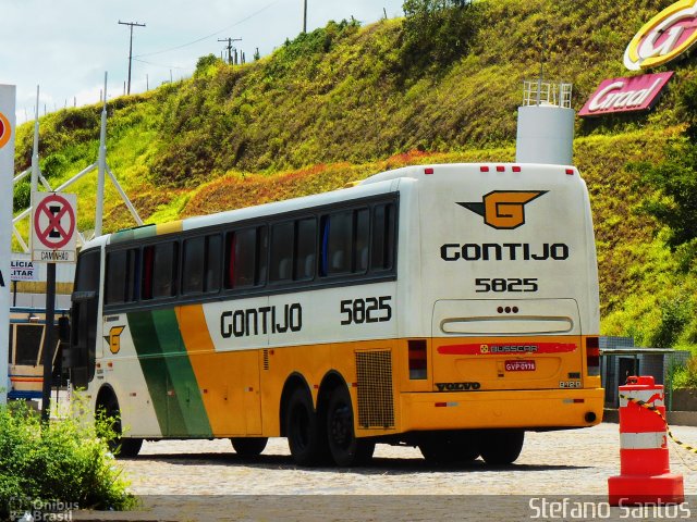
[[[697, 446], [697, 427], [673, 426], [672, 431]], [[487, 467], [480, 460], [466, 467], [437, 468], [426, 463], [416, 448], [378, 445], [374, 462], [366, 468], [304, 469], [293, 463], [283, 438], [270, 439], [256, 460], [239, 458], [229, 440], [146, 442], [138, 458], [121, 460], [120, 464], [132, 481], [132, 492], [143, 496], [145, 506], [129, 520], [315, 520], [308, 519], [308, 510], [317, 520], [356, 520], [352, 515], [365, 515], [363, 508], [371, 499], [378, 507], [390, 504], [389, 509], [398, 510], [395, 513], [409, 513], [395, 520], [435, 520], [438, 511], [433, 511], [433, 505], [445, 510], [440, 518], [450, 520], [448, 514], [460, 508], [449, 510], [448, 506], [462, 502], [463, 495], [479, 499], [484, 510], [477, 514], [479, 519], [488, 515], [492, 504], [504, 501], [490, 497], [482, 502], [487, 495], [594, 495], [604, 501], [607, 480], [620, 471], [619, 446], [617, 425], [603, 423], [586, 430], [527, 433], [521, 457], [514, 465], [504, 468]], [[670, 451], [671, 470], [684, 475], [685, 494], [697, 495], [697, 455], [672, 443]], [[352, 511], [351, 497], [338, 504], [337, 496], [357, 496], [354, 499], [359, 499], [358, 507], [363, 508]], [[528, 497], [506, 511], [506, 517], [513, 518], [497, 511], [494, 520], [522, 520], [515, 515], [516, 510], [528, 519]], [[235, 502], [242, 505], [231, 514], [230, 506]], [[343, 508], [334, 513], [337, 505]], [[270, 512], [255, 514], [254, 509], [261, 506]], [[414, 509], [406, 509], [408, 506]], [[294, 512], [297, 518], [292, 517]], [[693, 515], [697, 518], [697, 504]]]

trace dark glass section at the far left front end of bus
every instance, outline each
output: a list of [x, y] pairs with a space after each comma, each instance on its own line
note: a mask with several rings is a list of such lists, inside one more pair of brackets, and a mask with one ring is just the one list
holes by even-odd
[[100, 273], [101, 249], [81, 253], [72, 296], [70, 348], [63, 359], [76, 387], [86, 387], [95, 376]]

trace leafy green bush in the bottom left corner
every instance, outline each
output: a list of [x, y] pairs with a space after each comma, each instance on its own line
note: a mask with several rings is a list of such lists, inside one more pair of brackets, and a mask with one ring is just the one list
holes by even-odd
[[[99, 436], [98, 436], [99, 434]], [[113, 465], [109, 425], [77, 418], [42, 425], [23, 402], [0, 406], [0, 520], [56, 502], [75, 509], [127, 509], [135, 498]]]

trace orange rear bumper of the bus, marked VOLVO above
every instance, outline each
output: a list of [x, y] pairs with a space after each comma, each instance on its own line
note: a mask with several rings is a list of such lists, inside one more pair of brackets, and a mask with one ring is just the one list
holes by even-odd
[[603, 403], [603, 388], [402, 394], [401, 430], [594, 426]]

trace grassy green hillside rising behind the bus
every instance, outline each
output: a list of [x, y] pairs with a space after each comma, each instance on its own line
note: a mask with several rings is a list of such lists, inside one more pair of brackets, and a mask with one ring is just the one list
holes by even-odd
[[[578, 110], [600, 80], [626, 75], [627, 42], [670, 3], [480, 0], [463, 14], [473, 29], [447, 60], [438, 39], [416, 52], [404, 20], [331, 22], [244, 66], [207, 57], [188, 80], [109, 103], [109, 164], [140, 214], [161, 222], [338, 188], [414, 162], [512, 160], [522, 83], [539, 74], [542, 48], [545, 76], [573, 82]], [[697, 277], [637, 212], [651, 190], [626, 167], [660, 161], [690, 117], [681, 97], [697, 67], [690, 60], [673, 69], [655, 111], [578, 119], [575, 160], [591, 192], [603, 332], [690, 346]], [[41, 119], [41, 167], [53, 186], [96, 161], [99, 114], [95, 105]], [[17, 171], [29, 164], [30, 139], [24, 125]], [[91, 175], [75, 186], [82, 228], [93, 226], [94, 184]], [[106, 231], [131, 226], [113, 189], [108, 197]]]

